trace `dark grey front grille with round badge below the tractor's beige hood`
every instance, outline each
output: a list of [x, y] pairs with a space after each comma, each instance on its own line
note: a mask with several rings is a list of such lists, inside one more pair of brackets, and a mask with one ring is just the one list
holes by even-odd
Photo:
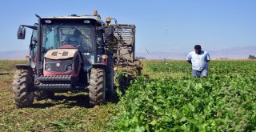
[[72, 58], [68, 59], [50, 59], [46, 58], [45, 70], [46, 71], [55, 71], [55, 72], [65, 72], [68, 69], [68, 66], [72, 66]]

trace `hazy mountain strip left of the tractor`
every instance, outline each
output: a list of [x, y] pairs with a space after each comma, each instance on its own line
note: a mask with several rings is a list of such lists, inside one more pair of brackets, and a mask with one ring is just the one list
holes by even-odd
[[28, 50], [0, 51], [0, 59], [26, 59]]

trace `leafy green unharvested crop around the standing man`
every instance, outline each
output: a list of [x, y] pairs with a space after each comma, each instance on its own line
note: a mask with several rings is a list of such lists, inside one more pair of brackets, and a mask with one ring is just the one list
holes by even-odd
[[110, 125], [117, 131], [256, 130], [254, 67], [210, 62], [209, 77], [192, 78], [186, 62], [147, 63], [146, 72], [157, 78], [132, 82]]

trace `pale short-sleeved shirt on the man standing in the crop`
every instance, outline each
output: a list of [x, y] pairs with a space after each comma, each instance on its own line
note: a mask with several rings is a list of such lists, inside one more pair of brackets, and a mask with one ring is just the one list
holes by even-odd
[[202, 71], [208, 68], [207, 61], [210, 61], [210, 55], [203, 50], [201, 50], [200, 54], [196, 54], [195, 51], [192, 51], [187, 55], [186, 60], [192, 62], [192, 69]]

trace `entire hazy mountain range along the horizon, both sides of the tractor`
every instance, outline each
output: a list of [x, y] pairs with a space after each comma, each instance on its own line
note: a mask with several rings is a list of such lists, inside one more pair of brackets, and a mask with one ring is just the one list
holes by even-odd
[[[234, 47], [223, 50], [207, 50], [210, 58], [231, 58], [231, 59], [246, 59], [249, 55], [256, 56], [256, 46]], [[26, 59], [29, 54], [28, 50], [15, 51], [0, 51], [0, 59]], [[185, 52], [150, 52], [150, 53], [136, 53], [138, 57], [146, 59], [186, 59]]]

